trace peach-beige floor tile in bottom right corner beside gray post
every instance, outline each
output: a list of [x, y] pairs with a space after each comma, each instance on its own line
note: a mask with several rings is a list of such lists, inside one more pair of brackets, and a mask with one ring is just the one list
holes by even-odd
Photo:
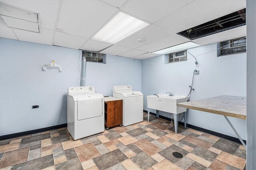
[[242, 159], [238, 156], [234, 156], [232, 154], [229, 154], [227, 152], [222, 151], [217, 158], [218, 160], [225, 162], [227, 164], [230, 164], [238, 169], [243, 169], [245, 164], [246, 164], [246, 160]]

